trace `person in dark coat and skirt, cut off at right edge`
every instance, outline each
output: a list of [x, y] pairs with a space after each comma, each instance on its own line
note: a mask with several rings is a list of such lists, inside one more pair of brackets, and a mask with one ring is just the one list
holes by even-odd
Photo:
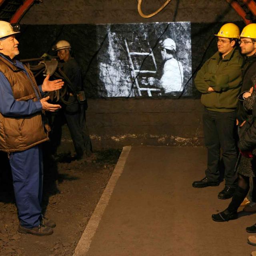
[[[238, 129], [240, 154], [238, 166], [238, 188], [232, 197], [228, 208], [218, 214], [212, 214], [212, 220], [224, 222], [238, 217], [238, 207], [243, 202], [250, 189], [250, 177], [253, 178], [253, 201], [256, 200], [256, 91], [253, 87], [250, 91], [242, 92], [239, 96], [244, 100], [243, 105], [247, 113], [246, 121]], [[255, 154], [253, 156], [253, 154]], [[256, 232], [256, 225], [246, 228], [248, 232]]]

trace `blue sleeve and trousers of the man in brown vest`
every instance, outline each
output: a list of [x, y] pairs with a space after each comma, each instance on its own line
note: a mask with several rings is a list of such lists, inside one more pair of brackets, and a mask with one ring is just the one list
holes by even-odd
[[[2, 54], [1, 56], [5, 58]], [[11, 62], [8, 58], [6, 59]], [[27, 74], [21, 62], [16, 61], [14, 65]], [[28, 79], [30, 79], [29, 76]], [[10, 83], [0, 72], [0, 112], [2, 115], [27, 116], [42, 111], [40, 96], [37, 92], [36, 95], [37, 102], [15, 100]], [[41, 146], [37, 145], [28, 150], [10, 153], [9, 161], [20, 225], [25, 228], [34, 228], [40, 224], [42, 216], [43, 162]]]

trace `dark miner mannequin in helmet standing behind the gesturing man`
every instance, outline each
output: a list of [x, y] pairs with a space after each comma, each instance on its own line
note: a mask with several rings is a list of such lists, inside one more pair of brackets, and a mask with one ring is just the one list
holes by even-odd
[[[82, 73], [76, 60], [71, 56], [71, 46], [68, 41], [60, 40], [53, 47], [54, 51], [57, 51], [58, 57], [62, 62], [62, 71], [70, 81], [72, 88], [67, 86], [67, 100], [72, 104], [64, 105], [62, 110], [64, 112], [70, 135], [76, 150], [76, 159], [90, 156], [91, 154], [91, 142], [87, 133], [84, 102], [78, 100], [78, 94], [83, 90], [82, 85]], [[58, 136], [54, 130], [59, 130], [61, 121], [60, 115], [56, 116], [53, 122], [53, 134], [52, 139]], [[54, 142], [53, 142], [54, 143]]]

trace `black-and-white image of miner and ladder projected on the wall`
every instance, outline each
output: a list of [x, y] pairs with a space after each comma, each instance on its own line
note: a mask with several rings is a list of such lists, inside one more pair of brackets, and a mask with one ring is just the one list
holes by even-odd
[[184, 96], [191, 94], [190, 22], [108, 24], [97, 55], [98, 96]]

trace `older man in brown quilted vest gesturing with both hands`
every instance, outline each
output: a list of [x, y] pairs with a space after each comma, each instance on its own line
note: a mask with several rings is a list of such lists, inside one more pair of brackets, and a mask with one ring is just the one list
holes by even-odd
[[8, 153], [18, 218], [18, 231], [38, 236], [52, 234], [55, 223], [42, 216], [43, 162], [41, 143], [48, 140], [45, 111], [60, 105], [49, 104], [41, 94], [58, 90], [62, 80], [37, 86], [34, 76], [14, 57], [19, 54], [15, 35], [19, 28], [0, 21], [0, 150]]

